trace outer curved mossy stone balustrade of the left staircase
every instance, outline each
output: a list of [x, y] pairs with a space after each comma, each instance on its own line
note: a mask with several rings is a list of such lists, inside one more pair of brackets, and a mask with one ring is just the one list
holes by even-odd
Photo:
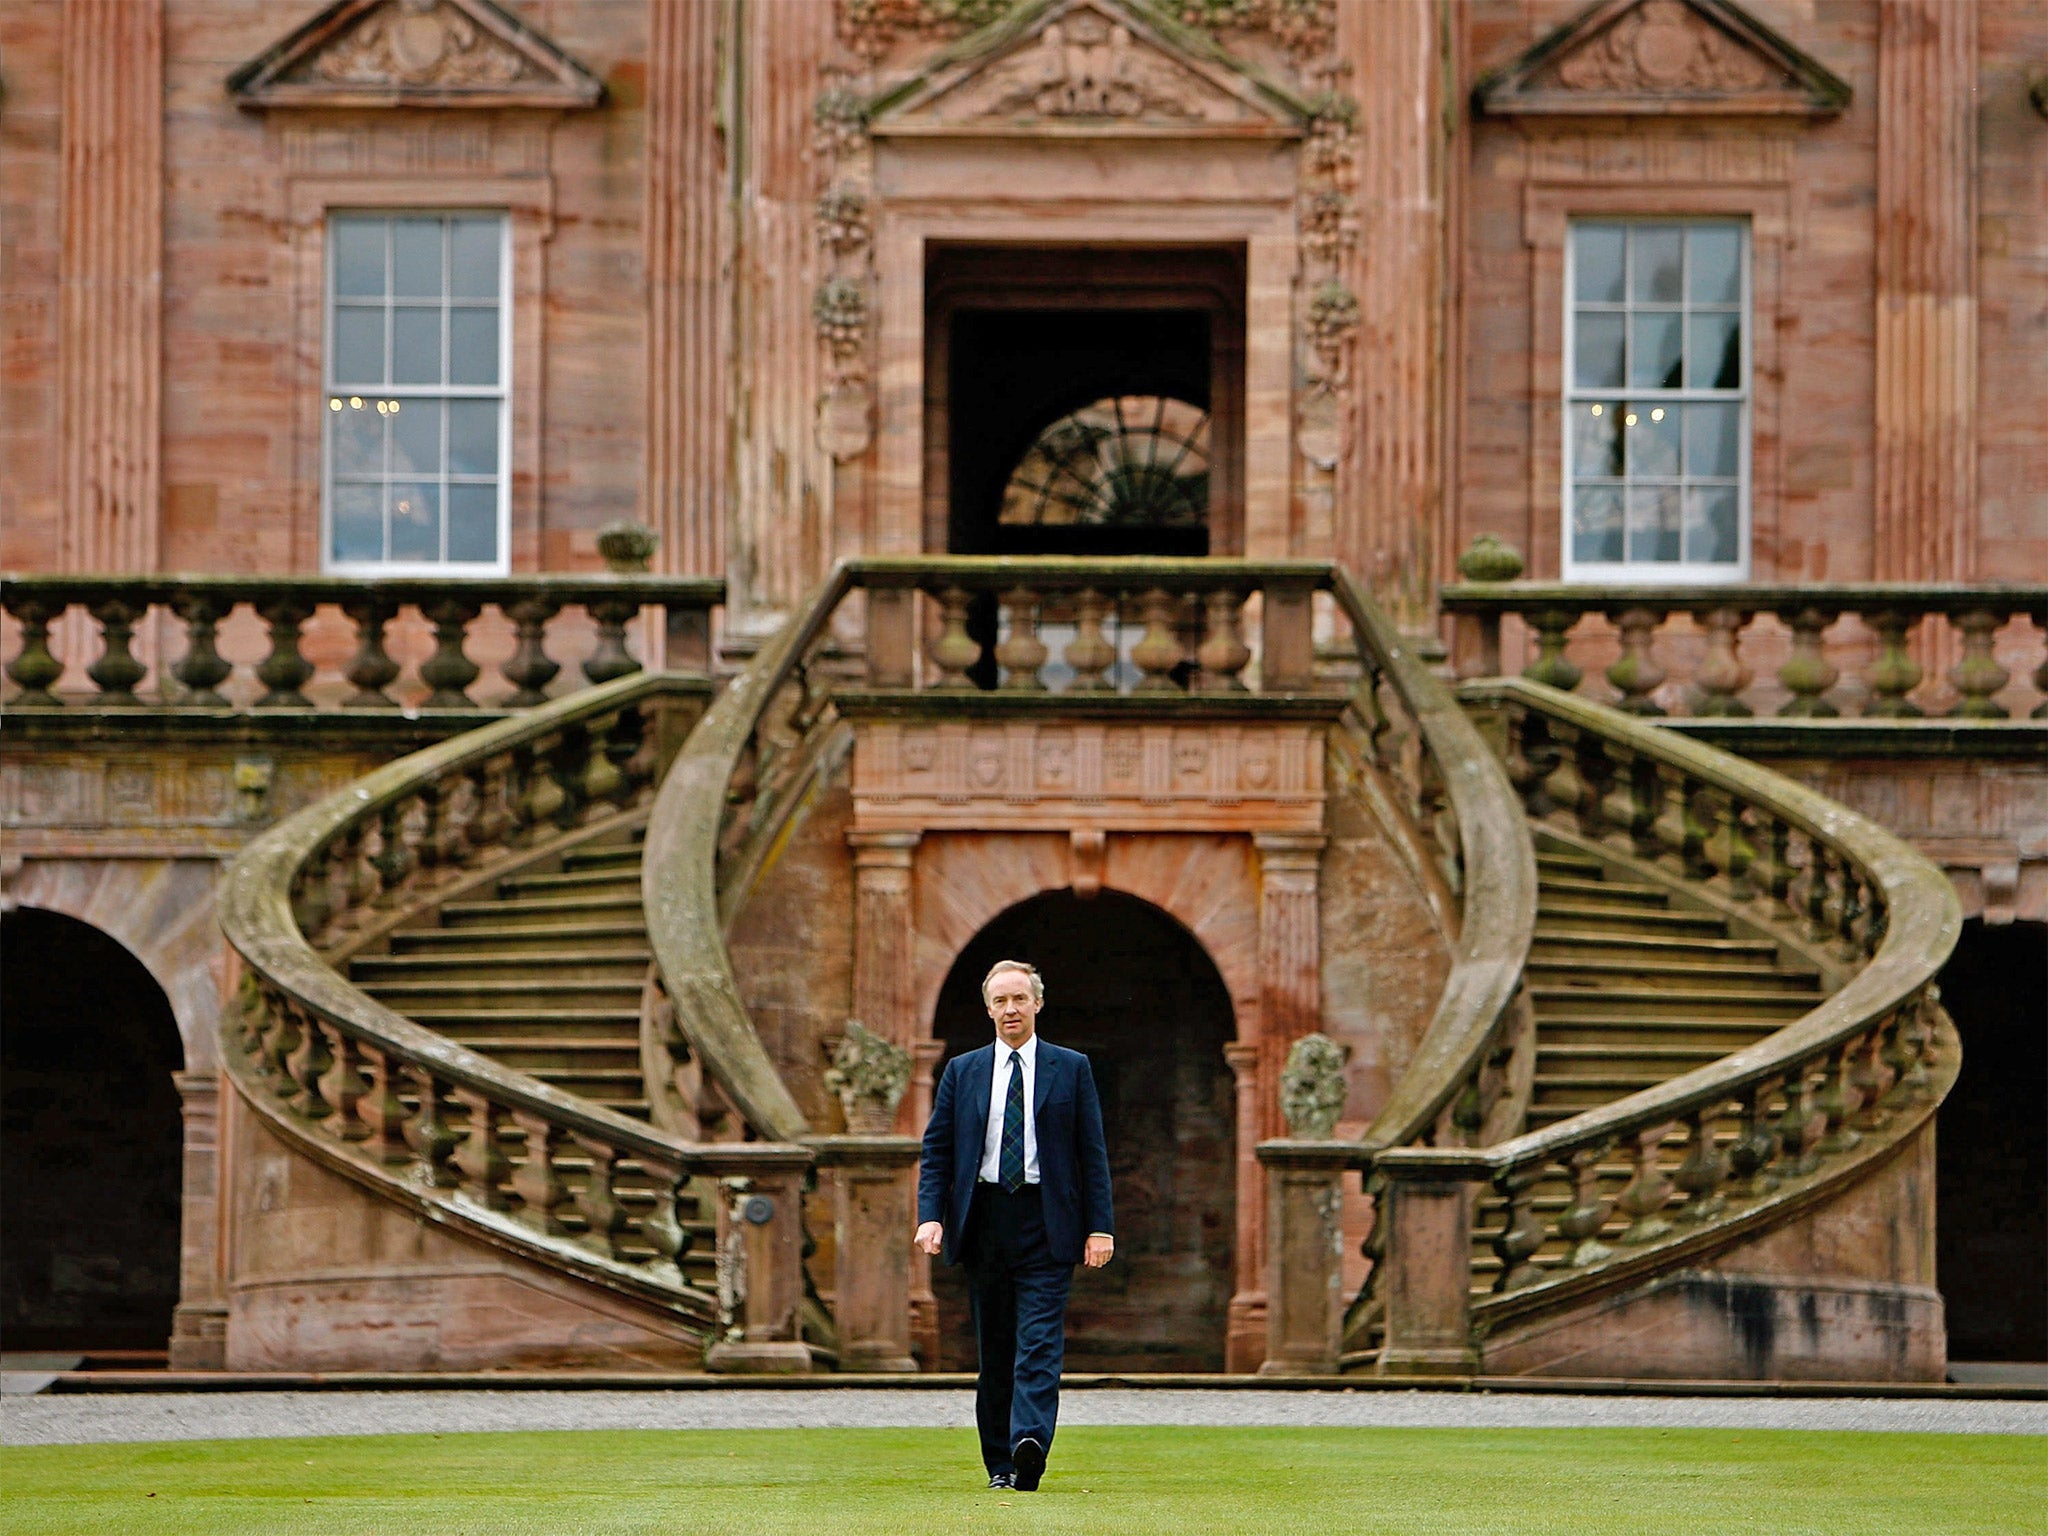
[[786, 1182], [801, 1149], [684, 1143], [414, 1024], [334, 967], [500, 866], [637, 821], [705, 692], [637, 674], [399, 758], [256, 838], [217, 909], [246, 965], [223, 1059], [281, 1135], [430, 1221], [711, 1327], [717, 1298], [678, 1266], [684, 1184]]

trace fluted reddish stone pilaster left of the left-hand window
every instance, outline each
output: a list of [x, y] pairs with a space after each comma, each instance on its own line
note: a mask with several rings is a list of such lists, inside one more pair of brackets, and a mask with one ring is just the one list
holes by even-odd
[[63, 0], [61, 555], [156, 569], [164, 389], [164, 4]]

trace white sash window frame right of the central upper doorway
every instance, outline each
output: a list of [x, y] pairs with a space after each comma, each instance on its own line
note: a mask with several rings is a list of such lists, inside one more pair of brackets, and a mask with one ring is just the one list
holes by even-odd
[[[1579, 225], [1624, 225], [1630, 229], [1642, 227], [1671, 227], [1688, 229], [1700, 225], [1735, 225], [1741, 231], [1741, 338], [1743, 338], [1743, 362], [1741, 362], [1741, 383], [1737, 389], [1630, 389], [1624, 385], [1618, 389], [1579, 389], [1579, 301], [1577, 301], [1577, 240], [1573, 238]], [[1753, 371], [1757, 354], [1755, 336], [1755, 283], [1753, 283], [1753, 262], [1755, 262], [1755, 227], [1753, 221], [1741, 215], [1628, 215], [1628, 213], [1575, 213], [1565, 221], [1565, 346], [1563, 346], [1563, 410], [1559, 420], [1559, 561], [1565, 582], [1579, 582], [1585, 586], [1733, 586], [1749, 580], [1751, 569], [1751, 500], [1755, 492], [1753, 473], [1753, 446], [1755, 446], [1755, 389]], [[1683, 289], [1681, 289], [1683, 291]], [[1604, 309], [1610, 305], [1602, 305]], [[1690, 313], [1690, 305], [1681, 307]], [[1612, 305], [1616, 313], [1632, 313], [1634, 303], [1626, 297], [1620, 305]], [[1630, 328], [1624, 326], [1624, 334]], [[1573, 494], [1573, 408], [1585, 401], [1628, 401], [1628, 399], [1653, 399], [1657, 403], [1683, 406], [1690, 401], [1700, 403], [1735, 403], [1739, 408], [1739, 428], [1737, 428], [1737, 489], [1735, 489], [1735, 516], [1737, 516], [1737, 559], [1726, 565], [1712, 565], [1704, 561], [1581, 561], [1573, 557], [1573, 537], [1571, 520], [1575, 508]], [[1624, 494], [1626, 506], [1626, 494]], [[1626, 516], [1626, 512], [1624, 512]], [[1624, 524], [1624, 551], [1626, 551], [1626, 524]]]

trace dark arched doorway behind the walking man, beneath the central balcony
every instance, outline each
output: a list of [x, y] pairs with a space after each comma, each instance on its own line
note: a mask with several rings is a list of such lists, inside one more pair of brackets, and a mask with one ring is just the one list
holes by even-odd
[[[1231, 997], [1200, 942], [1149, 901], [1049, 891], [958, 954], [936, 1034], [954, 1057], [989, 1040], [981, 977], [1001, 958], [1044, 975], [1044, 1038], [1083, 1051], [1102, 1092], [1116, 1262], [1077, 1270], [1069, 1370], [1223, 1370], [1235, 1239]], [[973, 1370], [967, 1286], [934, 1268], [940, 1358]]]

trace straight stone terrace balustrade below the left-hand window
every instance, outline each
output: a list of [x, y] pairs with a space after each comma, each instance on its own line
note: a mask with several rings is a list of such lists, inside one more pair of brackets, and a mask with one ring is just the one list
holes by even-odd
[[[221, 711], [246, 698], [262, 711], [465, 711], [481, 698], [526, 709], [547, 702], [563, 659], [578, 651], [588, 651], [584, 682], [639, 672], [627, 637], [643, 608], [666, 614], [664, 664], [705, 670], [711, 610], [723, 594], [723, 582], [680, 575], [4, 575], [0, 608], [18, 631], [4, 668], [14, 684], [6, 705]], [[479, 623], [487, 608], [496, 623]], [[336, 616], [315, 618], [319, 610]], [[569, 610], [582, 610], [582, 629], [592, 631], [584, 645], [559, 623]], [[551, 627], [563, 637], [559, 655], [549, 653]], [[309, 639], [352, 692], [309, 688], [319, 670], [305, 655]], [[223, 645], [244, 653], [248, 678]], [[408, 662], [416, 678], [406, 676]], [[485, 680], [473, 696], [487, 668], [502, 686]], [[59, 692], [66, 678], [80, 692]]]

